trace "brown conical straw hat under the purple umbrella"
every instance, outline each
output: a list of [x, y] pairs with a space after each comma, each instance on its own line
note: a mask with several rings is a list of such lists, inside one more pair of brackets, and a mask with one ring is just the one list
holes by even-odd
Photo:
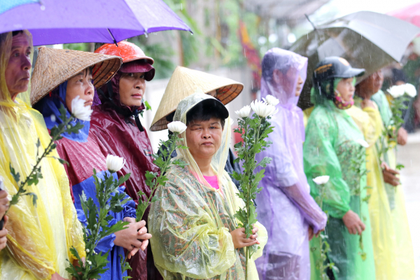
[[122, 63], [121, 57], [113, 55], [41, 47], [31, 78], [31, 104], [36, 104], [55, 87], [95, 64], [92, 75], [94, 86], [99, 88], [114, 76]]

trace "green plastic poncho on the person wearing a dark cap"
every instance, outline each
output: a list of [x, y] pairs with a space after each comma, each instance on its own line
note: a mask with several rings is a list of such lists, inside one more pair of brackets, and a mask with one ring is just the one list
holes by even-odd
[[[328, 86], [328, 83], [323, 83], [323, 86]], [[318, 89], [312, 89], [311, 99], [315, 107], [306, 128], [304, 172], [311, 186], [311, 195], [316, 200], [322, 197], [323, 210], [329, 215], [325, 235], [328, 236], [330, 251], [325, 265], [333, 262], [337, 267], [338, 270], [332, 270], [336, 280], [375, 279], [369, 212], [367, 203], [362, 201], [366, 194], [366, 179], [355, 171], [355, 168], [365, 169], [365, 148], [360, 144], [364, 141], [363, 134], [346, 111], [337, 109]], [[353, 163], [358, 156], [362, 158], [361, 165]], [[317, 186], [312, 179], [323, 175], [330, 176], [330, 180], [323, 187]], [[365, 223], [363, 251], [360, 236], [351, 235], [342, 221], [349, 210], [358, 214]], [[321, 279], [316, 268], [321, 258], [318, 238], [314, 237], [310, 242], [311, 279]], [[365, 260], [362, 254], [365, 254]]]

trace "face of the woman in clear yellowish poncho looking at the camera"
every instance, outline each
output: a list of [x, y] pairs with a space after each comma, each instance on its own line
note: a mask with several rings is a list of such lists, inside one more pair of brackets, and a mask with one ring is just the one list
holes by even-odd
[[221, 120], [196, 120], [188, 124], [186, 130], [187, 146], [195, 160], [209, 159], [218, 151], [222, 143]]

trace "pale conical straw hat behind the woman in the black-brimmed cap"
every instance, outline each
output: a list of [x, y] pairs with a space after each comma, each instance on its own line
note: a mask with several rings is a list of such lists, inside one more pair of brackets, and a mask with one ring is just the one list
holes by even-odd
[[226, 105], [241, 93], [244, 85], [230, 78], [177, 66], [160, 101], [151, 131], [166, 130], [168, 121], [165, 117], [174, 112], [179, 102], [193, 94], [197, 88], [204, 93], [216, 90], [216, 97]]

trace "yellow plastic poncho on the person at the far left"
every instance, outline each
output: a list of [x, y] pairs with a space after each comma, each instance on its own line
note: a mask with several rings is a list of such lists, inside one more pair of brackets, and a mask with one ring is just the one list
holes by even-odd
[[[28, 31], [25, 34], [31, 39]], [[29, 92], [10, 98], [5, 70], [10, 57], [12, 33], [0, 34], [0, 176], [9, 195], [18, 190], [9, 165], [20, 179], [31, 172], [36, 162], [36, 143], [41, 140], [40, 155], [50, 142], [43, 117], [29, 106]], [[53, 151], [41, 161], [43, 178], [38, 185], [26, 186], [38, 196], [36, 207], [30, 196], [21, 197], [8, 211], [7, 247], [0, 253], [0, 279], [50, 279], [57, 272], [68, 279], [66, 267], [74, 246], [84, 256], [83, 232], [71, 201], [69, 180]]]

